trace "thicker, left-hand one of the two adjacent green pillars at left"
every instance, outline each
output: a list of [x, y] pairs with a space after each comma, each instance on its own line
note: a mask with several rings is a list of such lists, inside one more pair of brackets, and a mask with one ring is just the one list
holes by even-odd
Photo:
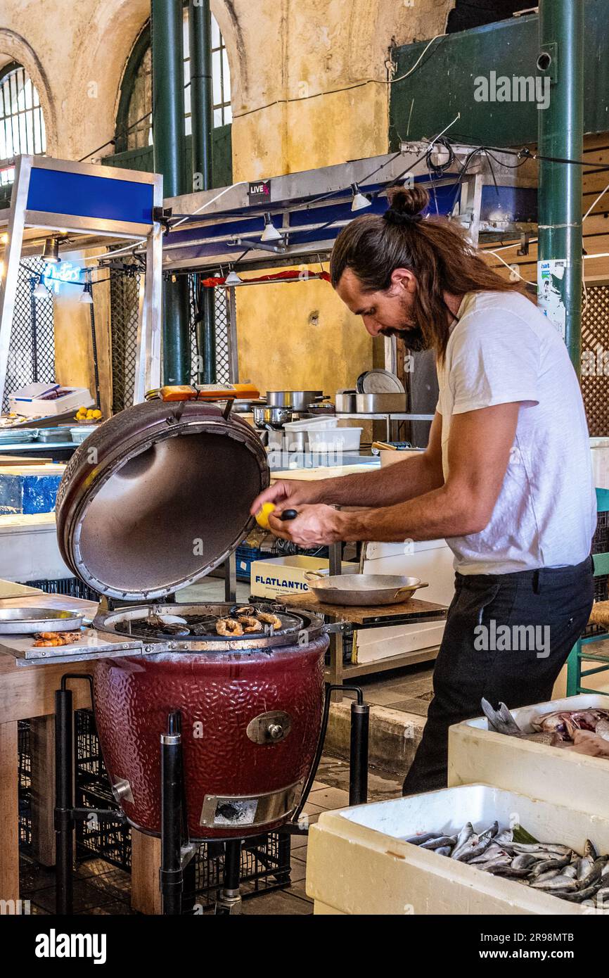
[[[182, 0], [152, 0], [152, 139], [154, 170], [165, 198], [188, 192], [184, 133]], [[190, 298], [186, 276], [163, 288], [163, 382], [191, 380]]]

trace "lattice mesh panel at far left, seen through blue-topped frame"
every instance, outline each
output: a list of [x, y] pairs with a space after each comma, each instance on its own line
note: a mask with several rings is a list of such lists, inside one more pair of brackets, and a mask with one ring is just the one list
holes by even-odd
[[11, 344], [2, 410], [8, 411], [9, 394], [28, 383], [55, 380], [55, 330], [53, 298], [34, 298], [45, 263], [42, 258], [22, 258], [20, 265]]

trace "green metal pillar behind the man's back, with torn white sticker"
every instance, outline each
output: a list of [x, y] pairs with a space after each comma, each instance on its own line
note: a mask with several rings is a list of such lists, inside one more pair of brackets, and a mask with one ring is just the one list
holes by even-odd
[[[538, 73], [549, 84], [549, 104], [539, 110], [539, 154], [581, 159], [584, 145], [584, 0], [541, 0]], [[580, 372], [582, 359], [582, 167], [540, 162], [539, 262], [565, 260], [564, 274], [551, 268], [539, 289], [552, 292], [565, 342]]]

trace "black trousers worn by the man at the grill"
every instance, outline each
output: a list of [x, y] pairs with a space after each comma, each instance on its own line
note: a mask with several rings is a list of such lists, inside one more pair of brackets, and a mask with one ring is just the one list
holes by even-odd
[[515, 574], [457, 574], [433, 676], [434, 697], [404, 794], [446, 787], [448, 731], [497, 707], [551, 699], [554, 683], [586, 628], [592, 559]]

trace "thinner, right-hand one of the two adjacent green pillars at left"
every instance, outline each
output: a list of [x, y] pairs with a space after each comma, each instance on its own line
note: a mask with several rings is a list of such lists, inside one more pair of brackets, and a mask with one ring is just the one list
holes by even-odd
[[[211, 11], [209, 0], [190, 0], [191, 118], [193, 123], [193, 190], [212, 184], [213, 79], [211, 66]], [[202, 359], [200, 379], [215, 383], [216, 324], [213, 289], [202, 290], [202, 309], [196, 324], [196, 345]]]

